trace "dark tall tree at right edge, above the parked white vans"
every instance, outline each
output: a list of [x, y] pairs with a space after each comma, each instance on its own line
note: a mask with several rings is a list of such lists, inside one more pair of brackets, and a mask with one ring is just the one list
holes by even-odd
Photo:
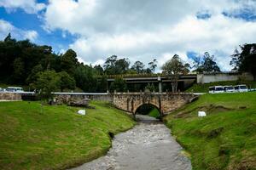
[[234, 71], [247, 71], [253, 74], [256, 81], [256, 43], [244, 44], [240, 46], [241, 53], [236, 49], [231, 55], [230, 65], [233, 65]]

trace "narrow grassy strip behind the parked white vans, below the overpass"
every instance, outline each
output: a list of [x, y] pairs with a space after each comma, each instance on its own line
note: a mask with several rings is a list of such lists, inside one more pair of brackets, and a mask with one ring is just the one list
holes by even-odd
[[235, 86], [237, 84], [247, 84], [248, 88], [256, 88], [256, 82], [237, 82], [237, 81], [224, 81], [224, 82], [209, 82], [204, 84], [193, 84], [192, 87], [188, 88], [186, 92], [199, 92], [199, 93], [207, 93], [209, 91], [209, 87], [211, 86]]

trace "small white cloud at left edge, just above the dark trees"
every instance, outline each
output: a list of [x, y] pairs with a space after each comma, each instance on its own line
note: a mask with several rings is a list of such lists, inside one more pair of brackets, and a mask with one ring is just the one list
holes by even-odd
[[29, 39], [32, 42], [34, 42], [38, 37], [37, 31], [21, 30], [6, 20], [0, 20], [0, 39], [3, 40], [9, 33], [11, 33], [11, 36], [16, 39]]

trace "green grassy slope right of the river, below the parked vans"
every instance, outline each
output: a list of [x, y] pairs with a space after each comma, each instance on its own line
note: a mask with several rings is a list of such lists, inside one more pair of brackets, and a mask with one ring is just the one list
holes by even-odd
[[193, 169], [256, 169], [255, 92], [206, 94], [165, 122], [191, 155]]

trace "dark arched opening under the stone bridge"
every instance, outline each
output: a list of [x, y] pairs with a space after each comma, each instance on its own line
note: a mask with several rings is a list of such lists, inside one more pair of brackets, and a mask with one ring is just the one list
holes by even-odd
[[158, 120], [161, 118], [160, 109], [152, 104], [143, 104], [138, 106], [137, 110], [135, 111], [135, 116], [137, 115], [151, 116]]

